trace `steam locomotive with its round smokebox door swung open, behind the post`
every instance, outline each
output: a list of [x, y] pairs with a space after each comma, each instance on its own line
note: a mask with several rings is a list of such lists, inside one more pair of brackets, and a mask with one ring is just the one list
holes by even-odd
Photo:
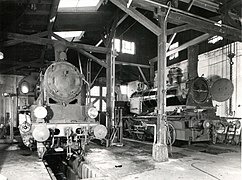
[[[216, 142], [221, 119], [212, 100], [223, 102], [233, 93], [233, 84], [225, 78], [212, 84], [204, 77], [182, 80], [182, 70], [168, 73], [166, 90], [167, 144], [176, 140]], [[136, 91], [130, 98], [130, 113], [123, 117], [124, 134], [140, 140], [152, 138], [157, 121], [157, 88]]]

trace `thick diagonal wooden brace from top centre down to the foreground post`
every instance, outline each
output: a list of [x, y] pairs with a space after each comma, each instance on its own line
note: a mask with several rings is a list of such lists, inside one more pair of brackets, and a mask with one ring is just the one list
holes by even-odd
[[123, 0], [110, 0], [113, 4], [115, 4], [117, 7], [119, 7], [121, 10], [123, 10], [125, 13], [130, 15], [132, 18], [134, 18], [136, 21], [138, 21], [140, 24], [145, 26], [147, 29], [149, 29], [151, 32], [153, 32], [156, 35], [159, 35], [161, 33], [161, 29], [154, 24], [151, 20], [149, 20], [147, 17], [145, 17], [143, 14], [141, 14], [139, 11], [137, 11], [133, 7], [126, 7], [125, 1]]

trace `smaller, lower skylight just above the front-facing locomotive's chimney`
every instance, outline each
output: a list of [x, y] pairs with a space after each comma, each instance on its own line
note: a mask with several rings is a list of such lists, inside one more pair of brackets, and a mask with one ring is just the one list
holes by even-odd
[[[80, 41], [85, 31], [60, 31], [60, 32], [54, 32], [54, 33], [62, 37], [63, 39], [66, 39], [67, 41], [75, 42], [75, 41]], [[55, 39], [55, 38], [52, 37], [52, 39]]]

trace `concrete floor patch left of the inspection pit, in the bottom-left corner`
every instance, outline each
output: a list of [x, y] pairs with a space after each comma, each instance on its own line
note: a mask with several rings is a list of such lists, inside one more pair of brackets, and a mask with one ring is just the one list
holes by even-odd
[[0, 144], [0, 180], [50, 180], [37, 154], [18, 144]]

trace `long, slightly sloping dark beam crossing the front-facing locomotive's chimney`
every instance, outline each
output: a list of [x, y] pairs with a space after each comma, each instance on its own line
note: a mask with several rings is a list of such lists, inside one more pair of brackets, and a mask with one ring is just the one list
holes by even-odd
[[55, 43], [61, 43], [64, 46], [70, 48], [70, 49], [83, 49], [85, 51], [95, 52], [95, 53], [101, 53], [106, 54], [108, 52], [108, 49], [105, 47], [95, 47], [92, 45], [87, 44], [79, 44], [79, 43], [71, 43], [71, 42], [60, 42], [52, 39], [47, 38], [40, 38], [37, 36], [29, 36], [29, 35], [23, 35], [23, 34], [17, 34], [17, 33], [8, 33], [7, 37], [9, 39], [15, 39], [15, 40], [21, 40], [22, 42], [28, 42], [33, 44], [39, 44], [39, 45], [54, 45]]

